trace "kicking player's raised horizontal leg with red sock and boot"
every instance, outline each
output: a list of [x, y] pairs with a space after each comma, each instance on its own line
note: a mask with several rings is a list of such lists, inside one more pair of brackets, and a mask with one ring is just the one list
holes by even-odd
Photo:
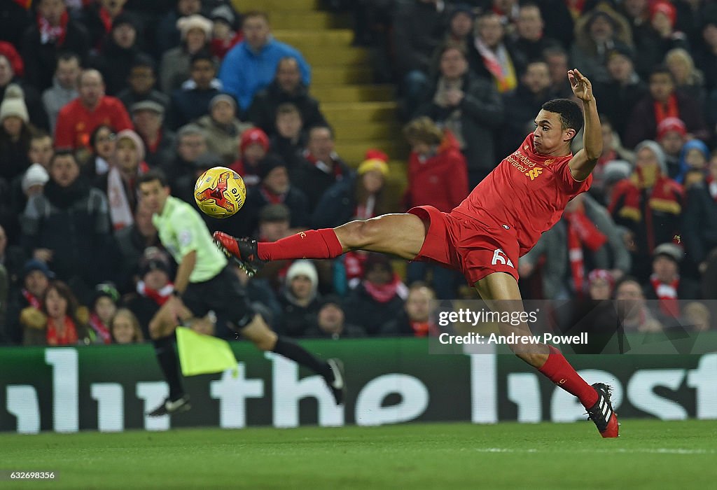
[[426, 225], [414, 214], [385, 214], [351, 221], [338, 228], [301, 231], [274, 242], [257, 243], [214, 232], [214, 242], [242, 269], [253, 275], [266, 261], [282, 259], [333, 259], [350, 250], [394, 254], [412, 260], [421, 251]]

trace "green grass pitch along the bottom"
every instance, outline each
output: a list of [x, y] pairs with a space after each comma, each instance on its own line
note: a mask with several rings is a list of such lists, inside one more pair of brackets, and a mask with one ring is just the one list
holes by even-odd
[[0, 436], [18, 489], [708, 489], [717, 421], [469, 423]]

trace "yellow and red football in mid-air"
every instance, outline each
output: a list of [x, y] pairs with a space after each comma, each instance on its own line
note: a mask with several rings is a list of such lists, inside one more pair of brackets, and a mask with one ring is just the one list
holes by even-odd
[[202, 213], [228, 218], [244, 206], [247, 186], [231, 168], [214, 167], [202, 173], [194, 186], [194, 200]]

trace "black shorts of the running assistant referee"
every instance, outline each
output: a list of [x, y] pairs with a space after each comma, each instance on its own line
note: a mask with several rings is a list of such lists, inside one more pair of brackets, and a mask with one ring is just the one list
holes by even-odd
[[230, 266], [208, 281], [190, 282], [181, 298], [195, 317], [204, 317], [210, 311], [217, 315], [217, 337], [234, 337], [234, 332], [246, 327], [255, 315]]

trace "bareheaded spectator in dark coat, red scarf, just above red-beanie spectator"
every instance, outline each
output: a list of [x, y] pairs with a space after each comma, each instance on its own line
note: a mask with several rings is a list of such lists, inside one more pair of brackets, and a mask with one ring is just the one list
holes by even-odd
[[670, 69], [665, 66], [652, 69], [649, 88], [649, 95], [637, 103], [625, 127], [623, 139], [627, 148], [633, 148], [643, 140], [654, 140], [657, 126], [668, 117], [682, 120], [688, 133], [695, 138], [708, 139], [701, 107], [693, 98], [675, 91]]

